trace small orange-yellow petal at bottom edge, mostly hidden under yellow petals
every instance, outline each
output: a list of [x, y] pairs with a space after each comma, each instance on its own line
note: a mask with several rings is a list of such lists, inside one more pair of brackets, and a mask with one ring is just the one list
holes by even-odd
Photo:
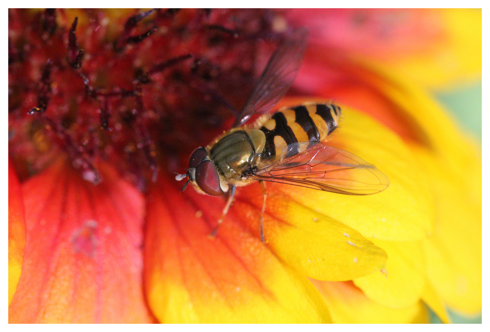
[[425, 306], [418, 301], [406, 308], [390, 308], [370, 300], [352, 282], [312, 280], [340, 324], [428, 323]]

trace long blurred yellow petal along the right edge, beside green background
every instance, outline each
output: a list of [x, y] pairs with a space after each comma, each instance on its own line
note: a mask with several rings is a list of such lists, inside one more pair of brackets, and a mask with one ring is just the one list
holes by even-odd
[[406, 80], [386, 72], [383, 76], [371, 80], [372, 90], [399, 105], [398, 113], [403, 110], [408, 126], [400, 132], [417, 133], [402, 137], [417, 156], [417, 168], [426, 174], [433, 197], [434, 228], [423, 239], [427, 277], [451, 308], [477, 314], [482, 287], [481, 153], [433, 98]]

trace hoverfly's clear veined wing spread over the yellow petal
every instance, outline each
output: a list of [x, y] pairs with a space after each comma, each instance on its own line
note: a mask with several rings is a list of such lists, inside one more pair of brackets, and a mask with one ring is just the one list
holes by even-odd
[[293, 143], [281, 156], [249, 177], [348, 195], [373, 194], [390, 184], [386, 175], [356, 155], [321, 143]]

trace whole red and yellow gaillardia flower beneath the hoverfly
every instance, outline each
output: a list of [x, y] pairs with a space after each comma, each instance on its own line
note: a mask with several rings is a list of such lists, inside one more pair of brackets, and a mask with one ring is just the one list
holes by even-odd
[[[437, 70], [421, 65], [424, 54], [458, 45], [446, 43], [460, 36], [447, 19], [455, 16], [9, 10], [9, 322], [422, 323], [429, 308], [442, 322], [447, 309], [478, 314], [479, 152], [420, 88], [477, 71], [478, 49], [466, 52], [473, 67], [455, 61], [458, 72], [444, 77], [429, 79]], [[211, 237], [226, 196], [181, 191], [175, 174], [230, 129], [270, 54], [302, 27], [303, 68], [276, 108], [338, 104], [339, 127], [324, 143], [376, 166], [390, 185], [358, 196], [268, 183], [262, 241], [263, 193], [253, 182], [237, 188]], [[334, 38], [354, 30], [369, 43]], [[402, 76], [398, 37], [412, 42], [410, 65], [429, 78]], [[381, 44], [387, 52], [376, 51]]]

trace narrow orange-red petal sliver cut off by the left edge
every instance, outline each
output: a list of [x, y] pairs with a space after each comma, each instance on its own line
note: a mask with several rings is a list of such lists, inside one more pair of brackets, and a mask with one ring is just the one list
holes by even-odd
[[8, 304], [21, 276], [25, 248], [24, 203], [19, 179], [8, 160]]

